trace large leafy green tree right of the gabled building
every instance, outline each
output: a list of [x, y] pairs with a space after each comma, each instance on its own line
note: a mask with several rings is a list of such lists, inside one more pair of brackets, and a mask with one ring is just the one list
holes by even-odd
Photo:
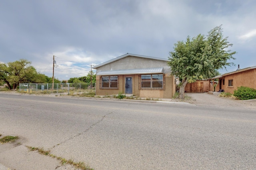
[[232, 55], [236, 52], [229, 49], [232, 44], [228, 42], [228, 37], [223, 37], [221, 26], [209, 31], [207, 36], [199, 34], [174, 44], [168, 65], [171, 74], [181, 80], [180, 98], [184, 99], [188, 80], [210, 78], [216, 74], [216, 70], [234, 65], [229, 61], [235, 59]]

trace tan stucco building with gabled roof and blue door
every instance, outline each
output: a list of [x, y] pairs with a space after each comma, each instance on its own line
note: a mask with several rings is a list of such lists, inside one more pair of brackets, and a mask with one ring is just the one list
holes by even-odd
[[174, 76], [168, 60], [125, 54], [92, 68], [96, 69], [96, 95], [133, 94], [140, 98], [172, 98]]

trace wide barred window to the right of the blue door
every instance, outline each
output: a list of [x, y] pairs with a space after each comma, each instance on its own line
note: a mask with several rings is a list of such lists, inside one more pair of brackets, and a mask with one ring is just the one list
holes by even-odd
[[141, 89], [144, 90], [164, 90], [163, 74], [141, 75]]

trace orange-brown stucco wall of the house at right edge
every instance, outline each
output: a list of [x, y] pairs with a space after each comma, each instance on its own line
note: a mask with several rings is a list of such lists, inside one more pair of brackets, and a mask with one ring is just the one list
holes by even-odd
[[[225, 84], [223, 85], [223, 79]], [[222, 89], [225, 92], [229, 92], [234, 94], [234, 90], [236, 90], [240, 86], [247, 86], [250, 88], [255, 88], [256, 89], [256, 68], [251, 69], [251, 70], [246, 70], [243, 72], [238, 72], [235, 74], [230, 74], [225, 77], [222, 77], [219, 79], [222, 80]], [[228, 80], [233, 80], [233, 86], [229, 87], [228, 86]], [[220, 89], [220, 84], [216, 86], [216, 91]]]

